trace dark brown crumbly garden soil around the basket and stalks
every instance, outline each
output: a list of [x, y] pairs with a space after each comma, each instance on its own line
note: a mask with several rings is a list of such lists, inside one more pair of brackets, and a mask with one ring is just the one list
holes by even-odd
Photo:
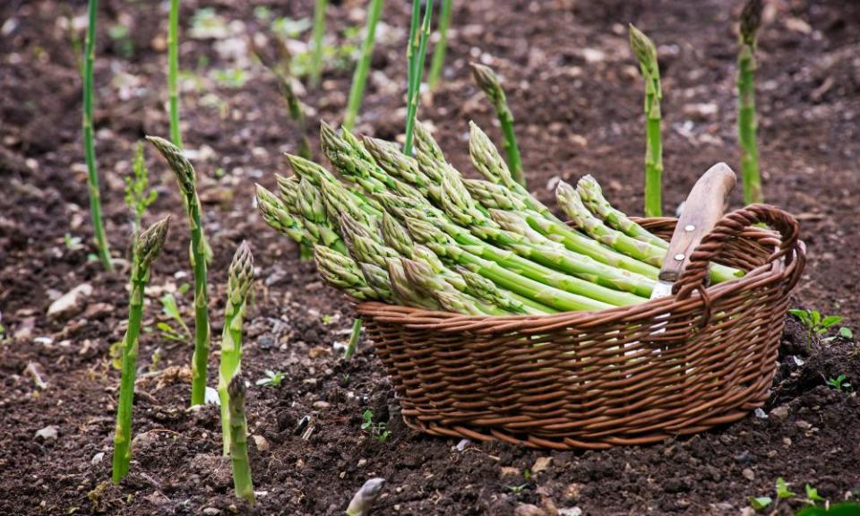
[[[96, 60], [97, 153], [107, 234], [117, 256], [129, 236], [123, 176], [143, 134], [167, 134], [167, 13], [164, 2], [105, 0]], [[837, 502], [860, 488], [860, 401], [825, 378], [846, 374], [860, 386], [860, 356], [849, 340], [811, 342], [789, 320], [767, 418], [743, 421], [692, 438], [607, 452], [547, 452], [499, 443], [430, 438], [405, 427], [373, 347], [340, 359], [351, 312], [324, 288], [295, 245], [266, 228], [251, 204], [254, 181], [273, 185], [285, 171], [280, 155], [298, 133], [264, 69], [228, 56], [225, 40], [188, 37], [190, 20], [211, 6], [228, 22], [232, 44], [264, 33], [252, 4], [183, 2], [182, 68], [186, 147], [197, 150], [211, 266], [212, 333], [219, 335], [229, 259], [243, 239], [256, 256], [258, 282], [250, 307], [243, 367], [250, 380], [286, 372], [280, 387], [254, 385], [249, 426], [254, 484], [265, 492], [253, 511], [232, 495], [220, 457], [217, 409], [186, 409], [189, 344], [157, 331], [144, 335], [144, 371], [135, 398], [132, 474], [110, 476], [118, 372], [109, 348], [125, 330], [126, 271], [102, 271], [92, 252], [80, 120], [81, 82], [67, 16], [85, 2], [0, 5], [0, 513], [2, 514], [340, 514], [369, 477], [388, 482], [379, 514], [738, 514], [750, 495], [773, 496], [777, 477], [797, 493], [809, 483]], [[273, 16], [304, 18], [313, 2], [265, 2]], [[331, 6], [330, 34], [363, 20], [362, 2]], [[740, 2], [687, 3], [512, 1], [455, 2], [442, 87], [421, 108], [461, 170], [469, 171], [469, 119], [499, 137], [486, 101], [471, 85], [468, 62], [503, 75], [517, 116], [529, 184], [552, 202], [553, 178], [591, 173], [625, 211], [641, 210], [644, 142], [641, 80], [627, 50], [627, 22], [658, 42], [664, 76], [667, 206], [724, 160], [738, 169], [735, 144], [735, 32]], [[796, 214], [809, 254], [794, 305], [860, 321], [860, 5], [772, 2], [758, 56], [761, 163], [769, 202]], [[358, 130], [393, 138], [403, 125], [404, 39], [409, 4], [386, 4], [374, 73]], [[130, 29], [133, 51], [112, 39]], [[82, 38], [82, 32], [75, 32]], [[115, 34], [116, 36], [116, 34]], [[302, 36], [306, 40], [306, 35]], [[229, 48], [228, 48], [229, 50]], [[245, 66], [239, 88], [211, 80], [213, 69]], [[309, 125], [337, 122], [349, 69], [331, 69], [317, 90], [303, 92]], [[317, 143], [315, 135], [312, 137]], [[168, 247], [155, 264], [146, 325], [166, 320], [159, 294], [190, 280], [187, 236], [173, 178], [151, 150], [150, 176], [159, 199], [147, 221], [174, 215]], [[739, 190], [739, 189], [738, 189]], [[732, 205], [741, 204], [735, 192]], [[82, 237], [82, 248], [64, 236]], [[94, 288], [86, 309], [65, 321], [47, 306], [82, 283]], [[191, 298], [178, 295], [191, 322]], [[39, 339], [41, 338], [41, 339]], [[217, 348], [217, 339], [213, 348]], [[154, 357], [159, 357], [157, 360]], [[216, 370], [217, 353], [211, 360]], [[47, 388], [40, 389], [28, 368]], [[213, 383], [212, 383], [213, 384]], [[391, 437], [377, 443], [360, 429], [372, 409]], [[312, 416], [303, 438], [301, 422]], [[389, 417], [391, 418], [389, 419]], [[56, 426], [56, 439], [36, 437]], [[104, 454], [104, 455], [101, 455]], [[99, 458], [103, 460], [99, 461]], [[552, 458], [537, 471], [536, 461]], [[541, 460], [544, 462], [544, 460]], [[529, 478], [526, 469], [533, 470]], [[540, 469], [540, 468], [537, 468]], [[538, 509], [526, 504], [534, 504]], [[799, 508], [783, 501], [778, 512]], [[519, 507], [519, 508], [518, 508]], [[533, 512], [527, 512], [532, 510]]]

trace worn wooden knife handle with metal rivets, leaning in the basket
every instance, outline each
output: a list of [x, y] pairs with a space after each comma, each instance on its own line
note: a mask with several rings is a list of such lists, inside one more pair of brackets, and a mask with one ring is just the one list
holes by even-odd
[[675, 282], [701, 239], [723, 217], [728, 194], [735, 187], [735, 172], [725, 163], [709, 168], [693, 185], [678, 219], [659, 279]]

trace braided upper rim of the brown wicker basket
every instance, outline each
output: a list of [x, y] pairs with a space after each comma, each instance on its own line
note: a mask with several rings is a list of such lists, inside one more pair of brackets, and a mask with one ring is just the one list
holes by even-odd
[[[774, 210], [773, 207], [768, 207]], [[739, 210], [740, 211], [740, 210]], [[790, 217], [790, 216], [789, 216]], [[637, 222], [649, 226], [676, 223], [677, 219], [668, 217], [639, 218], [632, 217]], [[792, 218], [793, 219], [793, 218]], [[739, 230], [737, 237], [770, 242], [775, 247], [786, 242], [778, 232], [767, 228], [752, 226]], [[696, 311], [707, 308], [719, 297], [726, 297], [744, 288], [756, 288], [790, 278], [804, 266], [805, 245], [802, 240], [793, 238], [790, 253], [779, 256], [778, 259], [765, 262], [745, 271], [744, 276], [728, 280], [717, 285], [695, 288], [692, 291], [670, 294], [667, 297], [649, 299], [644, 303], [627, 306], [613, 306], [598, 311], [562, 312], [559, 314], [512, 314], [512, 315], [476, 315], [458, 314], [440, 310], [427, 310], [405, 305], [390, 305], [379, 301], [357, 301], [351, 299], [359, 315], [372, 316], [383, 323], [398, 323], [408, 328], [434, 328], [438, 331], [473, 331], [476, 333], [506, 333], [518, 331], [524, 334], [552, 331], [555, 328], [577, 326], [583, 329], [606, 323], [615, 323], [624, 319], [626, 322], [651, 320], [658, 314], [679, 311]], [[790, 259], [787, 260], [787, 257]], [[799, 259], [796, 259], [799, 258]], [[788, 264], [786, 265], [786, 262]], [[682, 278], [683, 279], [683, 278]], [[681, 280], [675, 282], [677, 286]], [[708, 310], [705, 310], [706, 314]]]

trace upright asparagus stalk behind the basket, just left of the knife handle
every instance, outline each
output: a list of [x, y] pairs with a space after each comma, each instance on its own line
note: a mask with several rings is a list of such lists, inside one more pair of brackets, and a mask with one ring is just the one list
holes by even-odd
[[639, 61], [642, 78], [645, 80], [645, 216], [659, 217], [663, 214], [663, 143], [660, 138], [660, 68], [657, 63], [657, 47], [641, 30], [630, 25], [630, 47]]

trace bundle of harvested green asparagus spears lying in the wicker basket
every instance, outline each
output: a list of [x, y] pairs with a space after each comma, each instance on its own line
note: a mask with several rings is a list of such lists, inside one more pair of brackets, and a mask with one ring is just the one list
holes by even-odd
[[[288, 155], [279, 193], [257, 185], [266, 223], [314, 248], [323, 280], [360, 301], [461, 314], [553, 314], [644, 303], [667, 242], [606, 201], [598, 182], [561, 183], [574, 227], [515, 181], [477, 125], [469, 154], [484, 180], [452, 167], [424, 125], [415, 157], [329, 125], [323, 153], [344, 182]], [[741, 275], [714, 266], [711, 280]]]

